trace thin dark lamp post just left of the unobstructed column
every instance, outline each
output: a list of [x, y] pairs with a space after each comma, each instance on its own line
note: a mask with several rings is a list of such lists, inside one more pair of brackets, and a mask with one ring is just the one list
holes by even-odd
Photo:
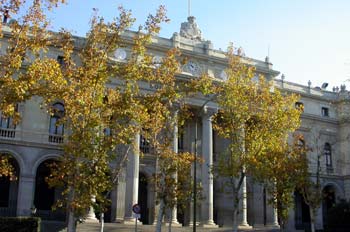
[[[207, 99], [203, 105], [199, 108], [197, 113], [200, 113], [205, 109], [208, 102], [217, 97], [217, 93], [213, 94]], [[198, 141], [198, 117], [196, 115], [195, 121], [195, 138], [194, 138], [194, 165], [193, 165], [193, 232], [197, 231], [197, 141]]]

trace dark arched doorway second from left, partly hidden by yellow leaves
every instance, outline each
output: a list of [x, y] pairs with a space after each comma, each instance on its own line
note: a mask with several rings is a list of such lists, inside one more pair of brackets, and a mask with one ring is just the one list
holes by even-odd
[[56, 200], [61, 196], [61, 190], [57, 188], [50, 188], [46, 178], [50, 176], [52, 165], [55, 160], [45, 160], [42, 162], [36, 171], [35, 177], [35, 194], [34, 206], [37, 209], [37, 215], [44, 220], [65, 220], [63, 210], [52, 210], [52, 206]]

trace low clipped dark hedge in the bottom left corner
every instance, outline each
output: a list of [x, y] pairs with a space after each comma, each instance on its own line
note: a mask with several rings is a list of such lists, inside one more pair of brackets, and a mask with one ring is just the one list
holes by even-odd
[[39, 232], [40, 218], [0, 217], [1, 232]]

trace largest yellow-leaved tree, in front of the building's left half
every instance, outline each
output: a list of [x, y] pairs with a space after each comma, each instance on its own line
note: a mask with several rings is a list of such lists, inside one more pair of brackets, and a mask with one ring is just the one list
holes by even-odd
[[[58, 206], [67, 209], [68, 231], [75, 231], [77, 220], [92, 205], [92, 197], [100, 204], [106, 202], [105, 192], [117, 182], [122, 167], [118, 163], [111, 169], [110, 162], [125, 162], [130, 150], [119, 154], [117, 146], [133, 147], [135, 134], [147, 119], [139, 83], [151, 80], [158, 72], [146, 54], [146, 45], [159, 32], [159, 24], [167, 20], [164, 8], [148, 17], [132, 41], [124, 35], [134, 19], [130, 11], [119, 10], [119, 17], [112, 22], [93, 17], [83, 40], [66, 31], [53, 35], [53, 46], [61, 50], [63, 64], [45, 57], [35, 61], [27, 72], [30, 78], [41, 77], [37, 94], [49, 112], [54, 113], [50, 107], [53, 102], [64, 104], [64, 115], [58, 121], [67, 132], [64, 153], [48, 180], [51, 186], [64, 188], [64, 200]], [[126, 44], [132, 47], [126, 62], [110, 58]], [[175, 70], [171, 63], [164, 67], [167, 72]]]

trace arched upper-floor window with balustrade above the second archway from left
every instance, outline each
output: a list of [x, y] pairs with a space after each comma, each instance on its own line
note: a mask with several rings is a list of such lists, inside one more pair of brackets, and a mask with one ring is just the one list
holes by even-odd
[[62, 103], [55, 103], [52, 106], [53, 115], [50, 118], [49, 127], [49, 142], [62, 143], [64, 124], [60, 122], [60, 119], [64, 116], [64, 105]]

